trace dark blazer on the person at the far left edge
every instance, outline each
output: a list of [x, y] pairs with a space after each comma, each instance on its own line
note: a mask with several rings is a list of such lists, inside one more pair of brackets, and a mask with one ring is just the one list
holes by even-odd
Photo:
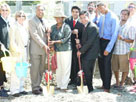
[[8, 28], [9, 26], [0, 16], [0, 42], [4, 44], [4, 46], [8, 49], [9, 48], [9, 35], [8, 35]]

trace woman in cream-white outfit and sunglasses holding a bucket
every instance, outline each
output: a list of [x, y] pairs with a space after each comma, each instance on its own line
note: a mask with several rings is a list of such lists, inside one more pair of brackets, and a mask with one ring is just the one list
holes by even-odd
[[[17, 57], [17, 62], [26, 62], [28, 46], [28, 30], [25, 25], [26, 15], [23, 11], [18, 11], [15, 15], [15, 24], [10, 28], [10, 52], [13, 57]], [[24, 91], [24, 78], [18, 78], [15, 68], [11, 73], [10, 92], [13, 96], [19, 97], [21, 94], [27, 94]]]

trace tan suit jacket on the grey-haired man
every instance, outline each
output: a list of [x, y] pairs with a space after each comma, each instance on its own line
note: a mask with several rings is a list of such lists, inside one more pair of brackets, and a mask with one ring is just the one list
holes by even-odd
[[[47, 24], [45, 19], [43, 19], [43, 24]], [[29, 21], [29, 33], [30, 54], [45, 54], [43, 46], [46, 45], [46, 28], [42, 25], [40, 19], [37, 16], [33, 17]]]

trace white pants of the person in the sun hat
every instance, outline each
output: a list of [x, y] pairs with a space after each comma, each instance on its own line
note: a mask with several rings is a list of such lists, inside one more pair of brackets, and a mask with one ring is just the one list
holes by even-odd
[[57, 87], [67, 89], [71, 70], [72, 51], [57, 52], [56, 81]]

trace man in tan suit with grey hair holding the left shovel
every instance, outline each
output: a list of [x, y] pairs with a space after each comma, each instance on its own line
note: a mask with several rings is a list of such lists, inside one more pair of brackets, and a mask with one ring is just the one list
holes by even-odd
[[44, 6], [38, 4], [36, 6], [36, 16], [29, 21], [30, 33], [30, 75], [32, 82], [32, 93], [39, 95], [42, 93], [40, 86], [42, 75], [45, 68], [45, 58], [49, 47], [46, 44], [47, 24], [43, 19]]

